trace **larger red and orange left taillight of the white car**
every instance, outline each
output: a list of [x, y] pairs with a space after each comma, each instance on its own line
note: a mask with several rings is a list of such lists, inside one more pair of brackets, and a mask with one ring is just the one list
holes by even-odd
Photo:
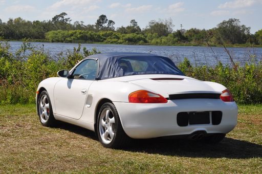
[[130, 103], [166, 103], [167, 99], [145, 90], [135, 91], [128, 96]]

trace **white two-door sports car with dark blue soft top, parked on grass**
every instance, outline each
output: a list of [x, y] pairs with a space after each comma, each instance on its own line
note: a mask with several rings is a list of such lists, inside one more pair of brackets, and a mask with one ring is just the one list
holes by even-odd
[[168, 136], [219, 142], [237, 123], [225, 86], [187, 77], [167, 57], [96, 54], [57, 75], [37, 88], [41, 124], [60, 120], [88, 128], [104, 147]]

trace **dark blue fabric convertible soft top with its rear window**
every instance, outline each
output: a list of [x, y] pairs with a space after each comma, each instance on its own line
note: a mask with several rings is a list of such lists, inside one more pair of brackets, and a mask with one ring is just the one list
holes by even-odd
[[184, 74], [174, 62], [155, 54], [147, 53], [101, 53], [88, 56], [98, 60], [97, 80], [140, 74]]

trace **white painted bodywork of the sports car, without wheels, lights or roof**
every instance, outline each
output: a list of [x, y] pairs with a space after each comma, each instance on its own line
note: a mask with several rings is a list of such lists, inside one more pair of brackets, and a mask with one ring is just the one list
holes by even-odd
[[[182, 78], [183, 80], [152, 80], [152, 78]], [[71, 80], [71, 86], [67, 85]], [[129, 103], [128, 95], [138, 90], [147, 90], [168, 98], [169, 94], [219, 93], [225, 86], [178, 75], [133, 75], [106, 80], [76, 80], [48, 78], [39, 83], [37, 91], [45, 88], [49, 93], [57, 120], [95, 130], [98, 103], [108, 99], [117, 108], [125, 133], [132, 138], [154, 138], [173, 135], [189, 135], [197, 130], [206, 133], [228, 133], [237, 122], [235, 102], [220, 99], [180, 99], [167, 103]], [[71, 89], [70, 89], [71, 88]], [[86, 89], [86, 94], [81, 91]], [[177, 124], [179, 112], [222, 111], [219, 125]]]

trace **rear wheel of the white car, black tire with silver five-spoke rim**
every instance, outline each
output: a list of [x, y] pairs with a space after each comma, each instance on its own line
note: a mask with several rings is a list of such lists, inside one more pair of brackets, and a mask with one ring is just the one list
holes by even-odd
[[[106, 113], [108, 111], [108, 119], [106, 119]], [[114, 118], [114, 123], [110, 121]], [[102, 120], [104, 123], [102, 123]], [[103, 126], [104, 125], [104, 126]], [[98, 114], [97, 118], [97, 136], [100, 143], [106, 148], [122, 148], [127, 146], [131, 139], [125, 134], [121, 121], [119, 119], [119, 115], [117, 109], [113, 103], [107, 102], [104, 103]], [[112, 131], [111, 131], [112, 130]], [[114, 133], [113, 138], [112, 134], [105, 132]]]

